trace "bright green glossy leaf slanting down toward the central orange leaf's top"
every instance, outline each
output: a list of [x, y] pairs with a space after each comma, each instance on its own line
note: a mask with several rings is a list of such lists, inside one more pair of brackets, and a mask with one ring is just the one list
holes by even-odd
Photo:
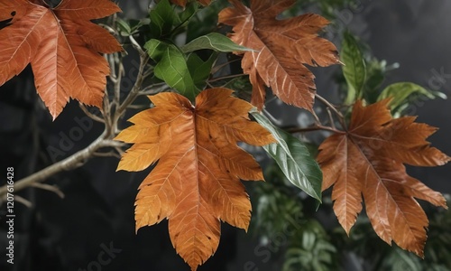
[[200, 90], [196, 87], [189, 72], [185, 55], [179, 51], [179, 48], [173, 44], [154, 39], [146, 42], [144, 48], [152, 60], [157, 62], [153, 70], [155, 76], [193, 101]]

